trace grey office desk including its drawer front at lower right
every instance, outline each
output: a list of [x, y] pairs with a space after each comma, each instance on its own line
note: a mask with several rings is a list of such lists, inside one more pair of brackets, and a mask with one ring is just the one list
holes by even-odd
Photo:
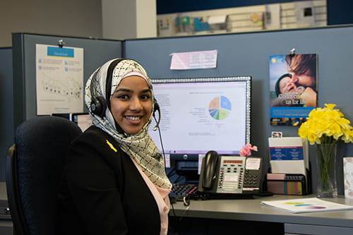
[[[312, 198], [316, 195], [306, 195], [303, 198]], [[173, 205], [175, 217], [205, 219], [227, 219], [227, 221], [245, 221], [256, 224], [271, 223], [282, 224], [285, 234], [353, 234], [353, 210], [341, 210], [330, 212], [311, 212], [292, 214], [279, 209], [260, 205], [261, 200], [287, 200], [300, 198], [296, 195], [273, 195], [269, 197], [256, 197], [255, 199], [234, 200], [191, 200], [189, 209], [183, 203]], [[334, 203], [353, 205], [353, 199], [346, 199], [342, 195], [339, 198], [325, 198]], [[171, 212], [171, 215], [173, 212]], [[182, 219], [181, 219], [182, 221]], [[231, 226], [231, 224], [229, 224]], [[224, 227], [224, 224], [223, 226]], [[252, 229], [249, 227], [248, 229]], [[219, 230], [222, 234], [222, 229]], [[237, 234], [237, 228], [233, 228]], [[271, 231], [266, 231], [272, 234]], [[263, 233], [263, 231], [262, 231]], [[253, 233], [261, 234], [261, 233]], [[266, 233], [263, 233], [266, 234]]]

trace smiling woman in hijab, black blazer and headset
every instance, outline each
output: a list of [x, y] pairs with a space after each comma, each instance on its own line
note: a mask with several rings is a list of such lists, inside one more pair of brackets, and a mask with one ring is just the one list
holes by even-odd
[[167, 234], [172, 184], [148, 126], [152, 83], [131, 59], [90, 76], [93, 126], [71, 143], [59, 199], [63, 234]]

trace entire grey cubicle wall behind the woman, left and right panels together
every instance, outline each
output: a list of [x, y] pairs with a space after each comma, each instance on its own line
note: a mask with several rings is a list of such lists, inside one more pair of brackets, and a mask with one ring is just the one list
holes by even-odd
[[[253, 155], [263, 157], [265, 160], [264, 169], [268, 169], [268, 137], [271, 131], [282, 131], [284, 136], [297, 136], [298, 130], [297, 127], [270, 126], [269, 56], [288, 54], [293, 48], [296, 49], [298, 54], [318, 54], [318, 106], [322, 107], [327, 102], [335, 103], [344, 112], [347, 119], [353, 120], [353, 95], [351, 91], [353, 86], [351, 73], [352, 39], [353, 25], [303, 30], [126, 40], [124, 42], [23, 33], [13, 34], [13, 107], [15, 107], [13, 126], [36, 116], [35, 44], [56, 45], [59, 40], [64, 40], [67, 47], [82, 47], [84, 49], [85, 81], [97, 66], [122, 54], [127, 58], [140, 61], [151, 78], [251, 76], [251, 143], [259, 148], [259, 151]], [[217, 68], [186, 71], [169, 69], [170, 54], [174, 52], [213, 49], [217, 49], [218, 52]], [[11, 64], [8, 67], [11, 67]], [[10, 89], [10, 85], [6, 84], [6, 88]], [[11, 94], [6, 96], [11, 97]], [[7, 100], [12, 101], [11, 99]], [[10, 104], [7, 103], [6, 105]], [[8, 108], [8, 110], [10, 109], [11, 107]], [[4, 156], [6, 151], [1, 149], [1, 152]], [[340, 144], [337, 152], [339, 156], [337, 162], [338, 193], [343, 194], [342, 157], [353, 156], [353, 145]], [[310, 153], [313, 185], [316, 185], [316, 159], [313, 146], [311, 146]], [[265, 171], [263, 174], [265, 174]], [[1, 175], [0, 180], [4, 180], [1, 179]]]

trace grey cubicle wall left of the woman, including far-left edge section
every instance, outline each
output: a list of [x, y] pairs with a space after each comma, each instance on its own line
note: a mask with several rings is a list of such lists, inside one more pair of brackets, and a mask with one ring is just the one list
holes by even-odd
[[84, 84], [95, 68], [122, 55], [123, 42], [118, 40], [13, 34], [13, 47], [0, 49], [0, 181], [5, 181], [6, 152], [13, 143], [16, 127], [37, 114], [35, 45], [55, 46], [59, 40], [64, 41], [64, 47], [83, 48]]

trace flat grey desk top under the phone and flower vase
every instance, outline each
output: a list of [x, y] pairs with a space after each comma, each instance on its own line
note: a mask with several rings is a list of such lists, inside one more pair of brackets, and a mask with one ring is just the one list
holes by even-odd
[[[183, 203], [173, 204], [177, 217], [198, 217], [210, 219], [239, 219], [257, 222], [280, 222], [290, 224], [310, 224], [321, 226], [353, 228], [353, 210], [310, 212], [293, 214], [284, 210], [260, 205], [262, 200], [285, 200], [313, 198], [316, 195], [273, 195], [254, 199], [234, 200], [191, 200], [189, 208]], [[323, 198], [333, 203], [353, 205], [353, 199]], [[171, 213], [173, 214], [173, 212]]]

